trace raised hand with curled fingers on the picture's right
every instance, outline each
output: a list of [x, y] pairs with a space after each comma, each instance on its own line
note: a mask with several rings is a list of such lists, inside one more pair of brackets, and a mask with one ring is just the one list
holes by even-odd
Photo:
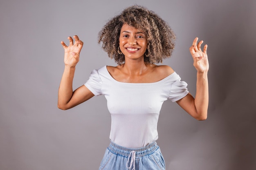
[[207, 45], [204, 45], [203, 51], [201, 50], [201, 45], [203, 41], [198, 42], [198, 38], [195, 38], [189, 51], [194, 59], [194, 66], [198, 72], [207, 72], [209, 70], [209, 62], [207, 57]]

